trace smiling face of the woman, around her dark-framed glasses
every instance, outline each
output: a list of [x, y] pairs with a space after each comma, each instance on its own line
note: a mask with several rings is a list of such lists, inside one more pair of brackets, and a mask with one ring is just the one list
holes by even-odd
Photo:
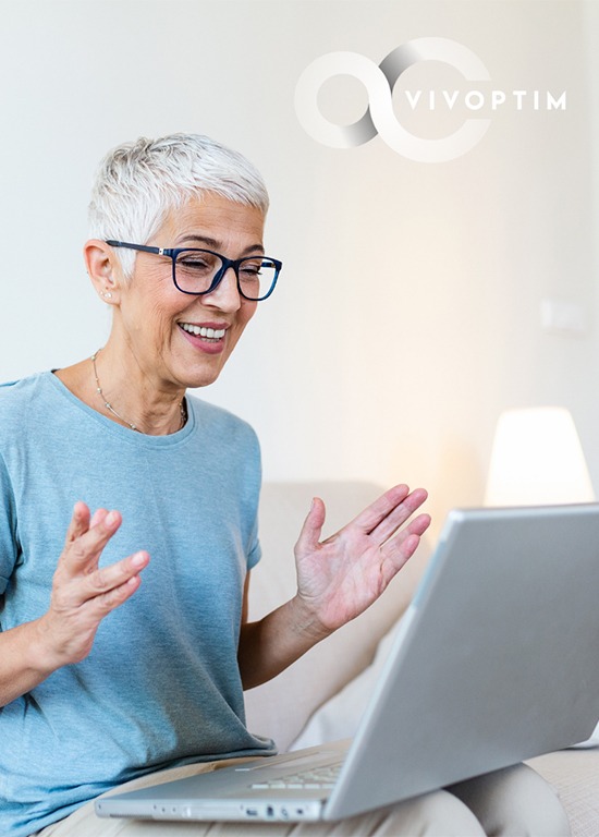
[[[171, 213], [147, 243], [236, 259], [264, 253], [264, 222], [260, 209], [206, 193]], [[160, 389], [204, 387], [218, 378], [256, 305], [240, 295], [232, 269], [211, 293], [191, 296], [175, 288], [170, 258], [138, 252], [133, 278], [119, 293], [119, 333]]]

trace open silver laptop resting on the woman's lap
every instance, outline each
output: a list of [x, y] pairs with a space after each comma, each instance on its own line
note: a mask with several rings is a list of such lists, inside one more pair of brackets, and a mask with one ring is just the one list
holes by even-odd
[[454, 510], [353, 740], [117, 793], [96, 813], [339, 820], [588, 739], [598, 594], [599, 504]]

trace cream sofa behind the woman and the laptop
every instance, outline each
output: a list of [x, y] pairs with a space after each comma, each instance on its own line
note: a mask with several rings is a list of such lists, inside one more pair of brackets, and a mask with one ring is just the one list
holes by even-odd
[[[260, 618], [294, 594], [293, 545], [314, 496], [327, 506], [327, 536], [380, 493], [365, 482], [265, 483], [259, 511], [264, 556], [252, 572], [249, 618]], [[279, 677], [247, 691], [248, 727], [273, 738], [280, 752], [351, 737], [430, 555], [431, 545], [423, 538], [372, 607]], [[560, 794], [573, 837], [599, 837], [599, 739], [528, 763]]]

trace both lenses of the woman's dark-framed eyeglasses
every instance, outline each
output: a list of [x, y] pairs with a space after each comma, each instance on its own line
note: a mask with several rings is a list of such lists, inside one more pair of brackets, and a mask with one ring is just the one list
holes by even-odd
[[[184, 250], [174, 263], [176, 284], [186, 293], [205, 293], [222, 267], [222, 259], [216, 253]], [[262, 256], [249, 256], [240, 262], [237, 278], [242, 294], [248, 300], [259, 300], [268, 295], [277, 280], [277, 266]]]

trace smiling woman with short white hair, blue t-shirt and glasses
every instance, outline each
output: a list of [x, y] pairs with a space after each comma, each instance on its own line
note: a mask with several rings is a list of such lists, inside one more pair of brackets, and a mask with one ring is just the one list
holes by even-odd
[[[89, 800], [163, 780], [167, 768], [272, 753], [245, 728], [242, 689], [368, 607], [429, 524], [413, 517], [426, 493], [399, 485], [320, 543], [315, 499], [295, 547], [297, 594], [247, 621], [258, 445], [244, 422], [186, 390], [217, 379], [274, 288], [267, 207], [256, 170], [206, 137], [114, 149], [84, 251], [112, 310], [110, 337], [74, 366], [0, 389], [2, 834], [144, 834], [151, 824], [96, 820]], [[505, 827], [528, 816], [533, 832], [567, 834], [531, 771], [501, 772], [492, 786], [469, 784], [469, 808], [439, 791], [340, 833], [482, 834], [472, 811], [497, 818], [519, 788], [549, 815], [521, 805], [502, 814]], [[169, 827], [205, 833], [161, 824], [160, 834]]]

